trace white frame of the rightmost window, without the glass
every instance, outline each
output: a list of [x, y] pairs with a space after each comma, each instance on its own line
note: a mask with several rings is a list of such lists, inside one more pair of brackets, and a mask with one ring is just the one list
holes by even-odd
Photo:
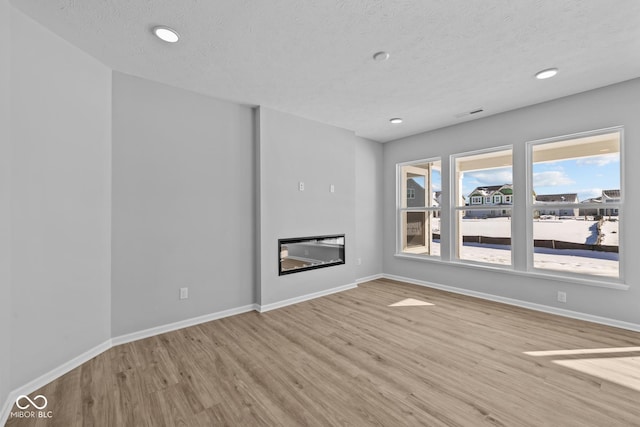
[[[620, 134], [620, 202], [612, 203], [618, 209], [618, 277], [607, 276], [595, 276], [592, 274], [575, 273], [575, 272], [563, 272], [550, 269], [541, 269], [534, 266], [534, 247], [533, 247], [533, 214], [535, 210], [548, 210], [548, 206], [536, 204], [530, 197], [526, 198], [526, 254], [527, 254], [527, 272], [542, 274], [545, 276], [558, 277], [558, 278], [570, 278], [578, 281], [600, 281], [605, 283], [622, 284], [625, 282], [624, 278], [624, 258], [626, 250], [624, 248], [624, 193], [625, 193], [625, 173], [624, 173], [624, 126], [613, 126], [609, 128], [597, 129], [592, 131], [578, 132], [569, 135], [555, 136], [551, 138], [538, 139], [528, 141], [526, 143], [526, 168], [527, 168], [527, 181], [526, 181], [526, 194], [532, 194], [533, 192], [533, 147], [541, 144], [548, 144], [553, 142], [585, 138], [589, 136], [603, 135], [607, 133], [618, 132]], [[585, 203], [565, 203], [553, 205], [554, 210], [559, 212], [562, 209], [567, 208], [603, 208], [605, 204], [585, 204]], [[545, 209], [547, 208], [547, 209]]]

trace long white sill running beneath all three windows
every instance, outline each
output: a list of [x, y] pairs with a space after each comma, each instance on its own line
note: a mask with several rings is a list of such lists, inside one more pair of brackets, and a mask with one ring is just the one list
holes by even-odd
[[405, 254], [405, 253], [396, 253], [394, 254], [394, 257], [401, 258], [401, 259], [415, 260], [420, 262], [430, 262], [430, 263], [436, 263], [436, 264], [451, 265], [455, 267], [470, 268], [474, 270], [505, 273], [505, 274], [511, 274], [514, 276], [524, 276], [524, 277], [531, 277], [536, 279], [554, 280], [554, 281], [560, 281], [560, 282], [575, 283], [580, 285], [595, 286], [598, 288], [616, 289], [620, 291], [629, 290], [629, 285], [622, 282], [598, 280], [596, 278], [592, 279], [592, 278], [583, 278], [583, 277], [564, 276], [561, 274], [553, 274], [553, 273], [546, 273], [546, 272], [543, 273], [543, 272], [540, 272], [539, 270], [520, 271], [520, 270], [514, 270], [511, 266], [472, 264], [472, 263], [466, 263], [462, 261], [445, 261], [442, 258], [436, 257], [436, 256], [411, 255], [411, 254]]

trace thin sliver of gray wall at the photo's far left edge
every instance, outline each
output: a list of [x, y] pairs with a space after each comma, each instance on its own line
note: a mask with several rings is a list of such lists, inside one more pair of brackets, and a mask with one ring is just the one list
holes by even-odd
[[10, 15], [8, 0], [0, 0], [0, 411], [11, 391]]

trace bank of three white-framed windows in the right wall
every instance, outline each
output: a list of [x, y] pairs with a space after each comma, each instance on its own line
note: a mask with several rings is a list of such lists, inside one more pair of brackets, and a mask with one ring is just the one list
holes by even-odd
[[623, 128], [515, 148], [450, 156], [449, 197], [441, 158], [398, 164], [396, 255], [626, 288]]

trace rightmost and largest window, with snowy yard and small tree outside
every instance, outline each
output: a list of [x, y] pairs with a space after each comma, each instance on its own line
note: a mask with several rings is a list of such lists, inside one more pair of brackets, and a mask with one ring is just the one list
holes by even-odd
[[530, 267], [620, 277], [622, 130], [528, 144]]

